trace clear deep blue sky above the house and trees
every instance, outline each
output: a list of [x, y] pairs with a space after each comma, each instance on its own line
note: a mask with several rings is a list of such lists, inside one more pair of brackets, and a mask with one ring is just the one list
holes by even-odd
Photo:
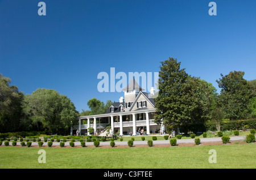
[[214, 1], [217, 16], [207, 0], [45, 0], [46, 16], [39, 2], [0, 0], [0, 73], [24, 94], [55, 89], [81, 112], [123, 96], [98, 92], [98, 73], [158, 72], [169, 57], [217, 89], [221, 73], [256, 79], [254, 0]]

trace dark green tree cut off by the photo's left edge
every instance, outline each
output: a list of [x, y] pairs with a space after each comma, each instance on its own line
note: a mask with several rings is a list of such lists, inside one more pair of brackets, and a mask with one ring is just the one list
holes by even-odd
[[0, 73], [0, 132], [14, 132], [20, 129], [23, 93], [11, 86], [11, 79]]

